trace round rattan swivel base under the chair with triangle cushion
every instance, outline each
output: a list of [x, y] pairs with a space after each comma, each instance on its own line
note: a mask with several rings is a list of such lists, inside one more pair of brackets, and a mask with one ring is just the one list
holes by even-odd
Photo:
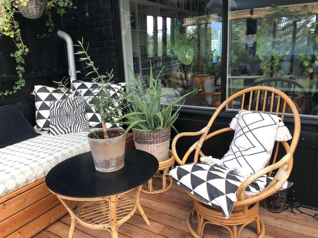
[[[259, 202], [251, 205], [245, 212], [243, 212], [243, 208], [233, 208], [230, 217], [225, 219], [221, 210], [202, 203], [188, 191], [187, 194], [193, 198], [193, 209], [187, 216], [187, 227], [193, 237], [202, 238], [204, 227], [207, 224], [213, 224], [226, 228], [231, 238], [239, 238], [242, 229], [254, 221], [256, 223], [256, 233], [258, 237], [264, 237], [265, 226], [263, 221], [259, 218]], [[191, 225], [191, 218], [195, 214], [197, 214], [198, 217], [197, 231], [195, 231]], [[239, 229], [238, 226], [240, 226]]]

